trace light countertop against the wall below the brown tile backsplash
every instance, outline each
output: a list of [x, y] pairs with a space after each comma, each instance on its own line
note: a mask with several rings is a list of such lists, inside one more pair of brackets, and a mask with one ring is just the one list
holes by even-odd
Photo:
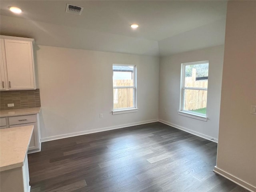
[[24, 109], [4, 109], [4, 110], [0, 110], [0, 117], [38, 114], [40, 113], [40, 110], [41, 110], [41, 107], [24, 108]]

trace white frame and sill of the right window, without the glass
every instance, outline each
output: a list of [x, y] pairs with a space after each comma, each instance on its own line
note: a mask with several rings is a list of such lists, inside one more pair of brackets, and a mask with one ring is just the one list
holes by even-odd
[[[198, 61], [198, 62], [188, 62], [188, 63], [182, 63], [181, 64], [181, 74], [180, 74], [180, 110], [178, 111], [179, 115], [182, 116], [187, 116], [190, 118], [195, 118], [198, 120], [203, 120], [203, 121], [207, 121], [207, 103], [208, 103], [208, 86], [207, 88], [198, 88], [198, 87], [185, 87], [185, 69], [186, 66], [188, 65], [196, 65], [196, 64], [205, 64], [208, 63], [208, 71], [209, 71], [209, 60], [205, 60], [205, 61]], [[209, 76], [209, 72], [208, 72], [208, 76]], [[206, 98], [206, 114], [202, 114], [202, 113], [197, 113], [197, 112], [192, 112], [192, 111], [188, 111], [188, 110], [184, 110], [183, 106], [184, 106], [184, 91], [185, 90], [205, 90], [207, 91], [207, 98]]]

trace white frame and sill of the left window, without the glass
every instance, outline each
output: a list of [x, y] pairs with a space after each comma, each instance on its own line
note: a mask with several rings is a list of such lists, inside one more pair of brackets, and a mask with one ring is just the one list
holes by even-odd
[[137, 67], [136, 65], [129, 65], [129, 64], [112, 64], [112, 76], [114, 75], [113, 66], [133, 66], [133, 86], [114, 86], [113, 85], [113, 78], [112, 78], [112, 88], [114, 89], [120, 89], [120, 88], [133, 88], [133, 107], [128, 108], [118, 108], [114, 109], [114, 94], [112, 97], [113, 102], [113, 115], [114, 114], [123, 114], [123, 113], [131, 113], [131, 112], [137, 112]]

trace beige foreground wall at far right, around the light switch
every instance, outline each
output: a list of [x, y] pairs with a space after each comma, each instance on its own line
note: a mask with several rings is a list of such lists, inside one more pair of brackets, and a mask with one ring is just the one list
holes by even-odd
[[216, 172], [256, 191], [256, 1], [229, 1]]

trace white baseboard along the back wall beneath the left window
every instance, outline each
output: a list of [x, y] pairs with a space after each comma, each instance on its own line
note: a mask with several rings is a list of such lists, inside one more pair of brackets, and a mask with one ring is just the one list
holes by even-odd
[[63, 138], [74, 137], [78, 135], [85, 135], [85, 134], [96, 133], [96, 132], [102, 132], [102, 131], [108, 131], [108, 130], [114, 130], [114, 129], [120, 129], [120, 128], [125, 128], [125, 127], [130, 127], [135, 125], [142, 125], [142, 124], [153, 123], [153, 122], [158, 122], [158, 119], [152, 119], [147, 121], [141, 121], [141, 122], [111, 126], [111, 127], [104, 127], [104, 128], [94, 129], [94, 130], [87, 130], [87, 131], [57, 135], [52, 137], [45, 137], [45, 138], [41, 138], [41, 142], [52, 141], [52, 140], [63, 139]]

